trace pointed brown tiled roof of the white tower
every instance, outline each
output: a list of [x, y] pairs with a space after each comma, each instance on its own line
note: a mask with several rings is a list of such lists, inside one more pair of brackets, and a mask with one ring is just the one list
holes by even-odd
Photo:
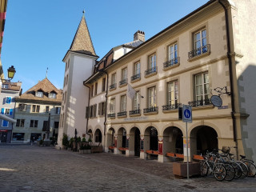
[[74, 39], [71, 43], [70, 50], [80, 52], [83, 54], [92, 54], [97, 56], [95, 54], [93, 42], [90, 38], [90, 33], [86, 24], [86, 18], [84, 14], [82, 15], [82, 19], [79, 23], [78, 30], [74, 35]]

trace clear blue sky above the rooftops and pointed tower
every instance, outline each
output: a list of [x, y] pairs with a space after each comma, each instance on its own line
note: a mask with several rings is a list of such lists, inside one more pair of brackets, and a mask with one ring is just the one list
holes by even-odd
[[[190, 14], [207, 0], [9, 0], [2, 44], [2, 66], [14, 66], [13, 82], [23, 93], [46, 77], [63, 86], [62, 62], [86, 10], [86, 22], [96, 54], [131, 42], [137, 30], [146, 40]], [[84, 79], [85, 80], [85, 79]], [[82, 83], [82, 82], [81, 82]]]

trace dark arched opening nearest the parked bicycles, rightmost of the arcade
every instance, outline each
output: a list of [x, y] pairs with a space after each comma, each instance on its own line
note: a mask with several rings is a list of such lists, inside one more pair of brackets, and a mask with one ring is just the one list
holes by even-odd
[[218, 134], [210, 126], [197, 126], [190, 133], [191, 155], [218, 149]]

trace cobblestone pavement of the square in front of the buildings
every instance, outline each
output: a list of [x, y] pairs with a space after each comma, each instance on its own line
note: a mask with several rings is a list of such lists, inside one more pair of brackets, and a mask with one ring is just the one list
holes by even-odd
[[52, 147], [0, 146], [0, 192], [256, 191], [256, 178], [176, 179], [172, 163], [122, 154], [78, 154]]

